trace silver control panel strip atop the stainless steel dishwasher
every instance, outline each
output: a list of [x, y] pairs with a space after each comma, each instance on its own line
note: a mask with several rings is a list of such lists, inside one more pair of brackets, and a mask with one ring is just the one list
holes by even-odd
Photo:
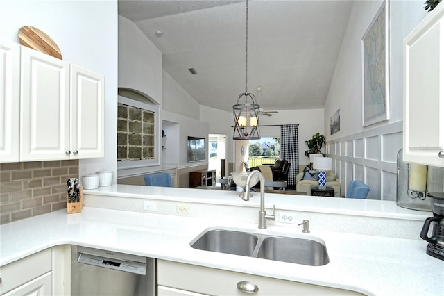
[[146, 258], [137, 255], [78, 247], [77, 262], [112, 270], [146, 274]]

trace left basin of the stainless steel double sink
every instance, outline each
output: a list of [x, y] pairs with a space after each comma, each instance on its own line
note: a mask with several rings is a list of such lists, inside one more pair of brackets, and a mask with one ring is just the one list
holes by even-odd
[[191, 247], [205, 251], [251, 256], [257, 240], [257, 236], [250, 233], [215, 229], [203, 233], [203, 236], [200, 236]]

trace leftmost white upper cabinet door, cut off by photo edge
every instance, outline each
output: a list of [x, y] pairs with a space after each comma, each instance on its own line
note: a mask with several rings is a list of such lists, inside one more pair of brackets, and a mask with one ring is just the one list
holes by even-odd
[[19, 161], [20, 45], [0, 40], [0, 162]]

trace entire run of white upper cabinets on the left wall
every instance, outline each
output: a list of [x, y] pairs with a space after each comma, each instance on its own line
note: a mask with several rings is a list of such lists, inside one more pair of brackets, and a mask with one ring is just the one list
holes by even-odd
[[104, 81], [0, 40], [0, 163], [103, 157]]

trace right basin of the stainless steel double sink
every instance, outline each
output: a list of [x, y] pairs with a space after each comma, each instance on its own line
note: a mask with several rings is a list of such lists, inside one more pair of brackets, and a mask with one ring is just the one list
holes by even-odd
[[325, 265], [330, 261], [327, 249], [321, 242], [280, 236], [265, 238], [259, 247], [257, 258], [311, 266]]

